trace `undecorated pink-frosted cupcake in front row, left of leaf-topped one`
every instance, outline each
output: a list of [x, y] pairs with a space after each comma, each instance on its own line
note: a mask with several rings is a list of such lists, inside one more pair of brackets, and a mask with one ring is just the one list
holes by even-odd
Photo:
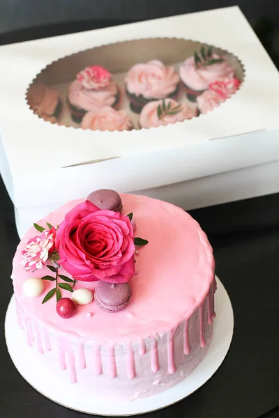
[[97, 111], [89, 111], [85, 114], [80, 125], [82, 129], [114, 131], [132, 130], [133, 123], [123, 110], [115, 110], [105, 106]]

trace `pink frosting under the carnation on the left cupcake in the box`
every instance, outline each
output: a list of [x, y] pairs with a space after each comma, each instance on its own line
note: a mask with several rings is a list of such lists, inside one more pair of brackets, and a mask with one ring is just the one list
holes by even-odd
[[82, 86], [82, 83], [75, 80], [70, 84], [68, 100], [75, 107], [80, 107], [86, 111], [96, 111], [104, 106], [112, 106], [115, 102], [115, 96], [118, 88], [114, 81], [109, 86], [99, 90], [89, 90]]

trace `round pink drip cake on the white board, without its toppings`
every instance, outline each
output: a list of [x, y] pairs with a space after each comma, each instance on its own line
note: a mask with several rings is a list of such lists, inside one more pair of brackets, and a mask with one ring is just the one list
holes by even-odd
[[[133, 401], [153, 396], [176, 385], [206, 355], [215, 316], [216, 281], [211, 246], [199, 224], [188, 213], [170, 203], [145, 196], [121, 194], [121, 200], [123, 208], [119, 210], [123, 217], [119, 212], [113, 212], [116, 213], [113, 217], [120, 217], [122, 221], [126, 219], [128, 229], [125, 226], [125, 240], [130, 239], [135, 230], [137, 237], [148, 241], [148, 244], [141, 247], [133, 247], [130, 243], [129, 248], [132, 251], [135, 249], [135, 255], [133, 252], [133, 258], [117, 270], [121, 281], [127, 281], [130, 272], [134, 274], [129, 281], [131, 296], [126, 307], [110, 313], [100, 309], [89, 298], [86, 304], [77, 304], [73, 316], [61, 318], [56, 312], [55, 297], [42, 304], [43, 298], [54, 286], [54, 281], [47, 279], [39, 280], [44, 284], [40, 295], [31, 297], [35, 295], [32, 291], [27, 296], [26, 288], [24, 289], [27, 279], [53, 275], [45, 265], [52, 264], [45, 260], [47, 255], [38, 265], [33, 266], [30, 258], [27, 258], [27, 242], [38, 235], [33, 227], [17, 247], [12, 279], [19, 326], [27, 335], [30, 350], [42, 353], [42, 366], [54, 368], [53, 381], [58, 384], [61, 373], [66, 373], [70, 382], [81, 385], [89, 396], [100, 395], [108, 400], [114, 398], [119, 401]], [[100, 203], [101, 201], [102, 199]], [[81, 202], [70, 201], [51, 212], [38, 224], [46, 229], [49, 224], [56, 228], [61, 225], [65, 215]], [[119, 202], [116, 203], [119, 206]], [[80, 213], [79, 216], [83, 217], [84, 211]], [[124, 216], [132, 213], [134, 224]], [[100, 219], [103, 217], [100, 212], [95, 212], [96, 214]], [[103, 210], [103, 214], [110, 216], [112, 210]], [[129, 215], [129, 219], [131, 216]], [[114, 220], [114, 223], [117, 222]], [[66, 229], [63, 226], [59, 229], [61, 245]], [[45, 231], [48, 240], [44, 247], [49, 251], [53, 240], [50, 232]], [[75, 230], [72, 232], [75, 234]], [[56, 231], [56, 238], [57, 235]], [[102, 245], [93, 235], [90, 235], [90, 240], [95, 242], [94, 245]], [[135, 243], [138, 243], [137, 238]], [[124, 246], [123, 257], [127, 255], [127, 245], [126, 243]], [[25, 254], [24, 260], [22, 251]], [[71, 263], [70, 258], [65, 256], [67, 251], [63, 247], [61, 255], [59, 250], [61, 260], [58, 263], [63, 263], [65, 268]], [[75, 256], [82, 259], [82, 254], [78, 254], [79, 250], [75, 248], [75, 251]], [[129, 267], [130, 260], [133, 260], [133, 265]], [[22, 261], [30, 270], [24, 270]], [[38, 270], [33, 271], [36, 267]], [[91, 269], [93, 276], [87, 272], [87, 267]], [[117, 280], [114, 278], [118, 276], [114, 274], [114, 267], [112, 277], [102, 276], [103, 270], [94, 270], [87, 261], [84, 274], [80, 274], [78, 269], [76, 272], [71, 271], [72, 279], [80, 277], [84, 280], [95, 280], [79, 279], [77, 283], [74, 282], [75, 290], [86, 288], [90, 294], [90, 291], [94, 291], [104, 281], [110, 281], [107, 286], [112, 288], [119, 286], [115, 285]], [[59, 274], [61, 277], [69, 277], [69, 269], [66, 271], [61, 267]], [[96, 274], [100, 281], [96, 279]], [[104, 274], [107, 274], [107, 270]], [[59, 282], [62, 283], [63, 280], [59, 279]], [[72, 284], [73, 281], [68, 285]], [[127, 283], [124, 285], [128, 286]], [[70, 298], [73, 293], [63, 290], [63, 287], [67, 288], [65, 282], [60, 288], [61, 296]]]

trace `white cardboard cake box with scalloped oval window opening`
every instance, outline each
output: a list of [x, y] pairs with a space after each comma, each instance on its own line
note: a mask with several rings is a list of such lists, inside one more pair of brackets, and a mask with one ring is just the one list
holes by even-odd
[[[27, 88], [53, 61], [142, 38], [224, 49], [243, 64], [243, 84], [208, 114], [149, 130], [84, 131], [47, 123], [29, 109]], [[186, 209], [279, 191], [279, 74], [237, 7], [6, 45], [0, 59], [0, 169], [20, 235], [98, 188]]]

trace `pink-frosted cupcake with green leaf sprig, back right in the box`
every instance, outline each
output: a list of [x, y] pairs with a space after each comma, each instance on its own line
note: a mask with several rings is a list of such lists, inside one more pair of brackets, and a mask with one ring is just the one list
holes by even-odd
[[212, 52], [212, 48], [201, 47], [200, 52], [184, 61], [179, 68], [181, 81], [186, 87], [188, 99], [195, 102], [198, 95], [209, 88], [216, 80], [234, 77], [235, 70], [226, 56]]

